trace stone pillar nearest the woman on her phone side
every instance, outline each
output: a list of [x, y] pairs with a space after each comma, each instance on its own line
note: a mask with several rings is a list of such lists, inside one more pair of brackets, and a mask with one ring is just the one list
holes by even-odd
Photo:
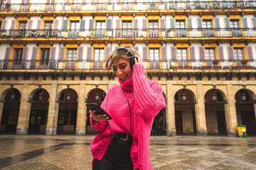
[[85, 135], [86, 133], [86, 106], [85, 106], [85, 84], [80, 84], [78, 102], [78, 115], [75, 128], [75, 135]]

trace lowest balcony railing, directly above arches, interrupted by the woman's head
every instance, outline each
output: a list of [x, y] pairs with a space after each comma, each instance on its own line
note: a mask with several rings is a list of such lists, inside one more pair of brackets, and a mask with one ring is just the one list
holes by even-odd
[[[256, 69], [256, 60], [144, 60], [146, 69]], [[0, 60], [0, 69], [105, 69], [94, 60]]]

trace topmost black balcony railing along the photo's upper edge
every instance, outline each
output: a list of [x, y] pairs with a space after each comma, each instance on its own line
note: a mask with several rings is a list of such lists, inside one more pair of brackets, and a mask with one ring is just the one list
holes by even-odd
[[0, 11], [139, 11], [139, 10], [223, 10], [255, 8], [256, 1], [169, 1], [131, 3], [0, 4]]

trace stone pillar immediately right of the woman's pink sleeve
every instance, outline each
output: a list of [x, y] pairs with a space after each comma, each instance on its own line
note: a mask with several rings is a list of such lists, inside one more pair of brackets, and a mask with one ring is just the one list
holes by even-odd
[[[176, 136], [176, 126], [175, 126], [175, 106], [174, 106], [174, 85], [166, 84], [167, 91], [166, 96], [168, 101], [166, 103], [166, 113], [168, 115], [168, 120], [166, 123], [166, 136]], [[166, 89], [163, 89], [166, 90]]]

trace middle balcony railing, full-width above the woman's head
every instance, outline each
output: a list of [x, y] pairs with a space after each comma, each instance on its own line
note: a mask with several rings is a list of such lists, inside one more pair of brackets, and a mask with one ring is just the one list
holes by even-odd
[[0, 38], [248, 38], [255, 28], [0, 30]]

